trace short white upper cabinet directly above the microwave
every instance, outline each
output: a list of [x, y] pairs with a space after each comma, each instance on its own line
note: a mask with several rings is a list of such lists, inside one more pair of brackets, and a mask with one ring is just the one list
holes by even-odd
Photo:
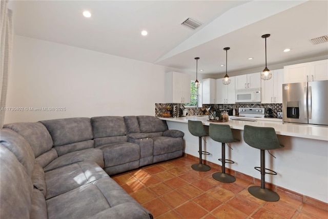
[[236, 90], [261, 87], [261, 73], [243, 74], [235, 77]]

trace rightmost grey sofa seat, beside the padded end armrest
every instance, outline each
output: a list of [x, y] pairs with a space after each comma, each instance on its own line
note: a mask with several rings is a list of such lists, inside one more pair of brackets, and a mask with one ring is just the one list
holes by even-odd
[[154, 137], [154, 156], [182, 150], [183, 140], [181, 137]]

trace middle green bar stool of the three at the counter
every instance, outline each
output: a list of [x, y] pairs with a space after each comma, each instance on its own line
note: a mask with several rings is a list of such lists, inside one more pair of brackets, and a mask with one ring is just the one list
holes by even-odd
[[238, 142], [239, 140], [234, 138], [229, 125], [218, 125], [213, 123], [210, 124], [210, 137], [214, 141], [222, 143], [222, 158], [219, 159], [219, 161], [222, 162], [222, 172], [213, 173], [212, 177], [222, 183], [235, 182], [235, 176], [226, 173], [226, 163], [235, 163], [231, 160], [226, 159], [226, 143]]

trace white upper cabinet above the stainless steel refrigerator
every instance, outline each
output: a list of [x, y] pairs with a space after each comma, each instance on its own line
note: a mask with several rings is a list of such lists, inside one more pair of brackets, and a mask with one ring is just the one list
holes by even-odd
[[328, 80], [328, 59], [284, 66], [284, 84]]

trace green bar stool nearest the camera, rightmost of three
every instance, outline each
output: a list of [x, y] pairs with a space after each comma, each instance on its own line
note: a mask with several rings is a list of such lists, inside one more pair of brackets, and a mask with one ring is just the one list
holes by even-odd
[[[260, 149], [261, 154], [261, 166], [254, 167], [257, 171], [261, 172], [261, 186], [251, 186], [248, 188], [248, 191], [253, 196], [261, 200], [268, 202], [278, 201], [280, 199], [279, 195], [276, 192], [265, 188], [265, 174], [277, 175], [275, 171], [265, 168], [265, 150], [273, 150], [284, 147], [279, 144], [275, 129], [271, 127], [255, 127], [245, 125], [243, 138], [245, 143], [249, 146]], [[265, 170], [270, 172], [265, 172]]]

